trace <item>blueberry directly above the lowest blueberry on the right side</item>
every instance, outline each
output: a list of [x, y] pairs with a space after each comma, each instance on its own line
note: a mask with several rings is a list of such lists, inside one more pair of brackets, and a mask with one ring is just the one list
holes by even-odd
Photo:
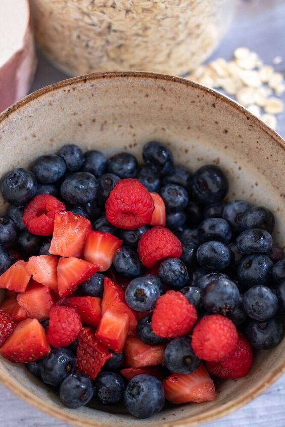
[[266, 286], [254, 286], [244, 294], [243, 310], [254, 320], [270, 319], [278, 310], [278, 298]]

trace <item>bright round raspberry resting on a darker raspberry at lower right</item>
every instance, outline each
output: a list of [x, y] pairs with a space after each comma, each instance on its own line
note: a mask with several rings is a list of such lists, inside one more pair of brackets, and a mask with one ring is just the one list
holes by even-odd
[[218, 362], [235, 349], [238, 340], [234, 323], [220, 314], [212, 314], [195, 326], [192, 347], [200, 359]]

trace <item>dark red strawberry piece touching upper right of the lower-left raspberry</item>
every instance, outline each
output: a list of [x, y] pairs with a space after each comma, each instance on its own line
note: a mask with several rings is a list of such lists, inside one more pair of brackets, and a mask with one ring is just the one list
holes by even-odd
[[98, 326], [102, 317], [102, 300], [97, 297], [72, 297], [68, 305], [77, 309], [82, 323], [88, 326]]

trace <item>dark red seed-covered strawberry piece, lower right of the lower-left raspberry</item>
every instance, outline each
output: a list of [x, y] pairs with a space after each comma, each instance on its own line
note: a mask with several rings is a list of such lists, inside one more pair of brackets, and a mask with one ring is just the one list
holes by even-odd
[[77, 371], [93, 380], [111, 357], [113, 355], [96, 339], [93, 329], [83, 327], [78, 336]]

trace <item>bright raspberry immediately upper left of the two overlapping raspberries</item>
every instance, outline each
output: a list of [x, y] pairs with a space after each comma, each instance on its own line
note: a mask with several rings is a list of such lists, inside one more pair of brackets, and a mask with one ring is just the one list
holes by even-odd
[[180, 292], [168, 291], [156, 302], [152, 328], [162, 338], [176, 338], [189, 334], [197, 320], [197, 311]]

